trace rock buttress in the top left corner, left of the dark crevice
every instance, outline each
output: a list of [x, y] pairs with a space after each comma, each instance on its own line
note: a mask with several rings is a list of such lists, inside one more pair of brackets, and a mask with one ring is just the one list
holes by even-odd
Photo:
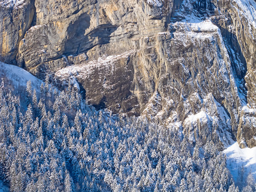
[[0, 60], [16, 63], [19, 43], [31, 27], [35, 15], [34, 1], [0, 1]]

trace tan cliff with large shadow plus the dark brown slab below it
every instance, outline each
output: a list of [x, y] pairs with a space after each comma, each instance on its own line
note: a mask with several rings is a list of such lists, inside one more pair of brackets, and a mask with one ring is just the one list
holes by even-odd
[[159, 66], [154, 60], [162, 60], [155, 54], [157, 34], [167, 30], [172, 6], [172, 1], [35, 1], [36, 25], [19, 43], [16, 61], [44, 77], [115, 55], [113, 68], [95, 65], [92, 73], [84, 77], [86, 68], [76, 78], [97, 108], [138, 115], [155, 91]]

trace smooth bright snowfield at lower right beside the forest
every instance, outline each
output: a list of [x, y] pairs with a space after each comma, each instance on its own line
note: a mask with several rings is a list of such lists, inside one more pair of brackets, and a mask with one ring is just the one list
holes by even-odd
[[250, 172], [256, 180], [256, 147], [240, 148], [236, 142], [223, 153], [227, 155], [227, 166], [236, 184], [245, 183]]

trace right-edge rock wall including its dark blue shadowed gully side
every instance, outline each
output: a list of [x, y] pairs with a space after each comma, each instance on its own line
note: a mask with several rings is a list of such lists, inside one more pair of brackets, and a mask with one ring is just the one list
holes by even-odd
[[[255, 35], [256, 23], [253, 19], [255, 15], [255, 1], [216, 1], [214, 4], [222, 13], [222, 18], [218, 20], [221, 33], [226, 40], [226, 46], [232, 47], [230, 51], [232, 67], [236, 72], [237, 79], [244, 84], [240, 86], [239, 95], [245, 95], [246, 106], [241, 109], [240, 121], [237, 132], [237, 140], [240, 147], [255, 146]], [[246, 112], [247, 111], [247, 112]], [[249, 111], [249, 112], [248, 112]]]

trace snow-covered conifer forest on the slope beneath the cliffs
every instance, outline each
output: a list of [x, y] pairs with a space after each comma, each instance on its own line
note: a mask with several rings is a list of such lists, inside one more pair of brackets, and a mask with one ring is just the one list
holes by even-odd
[[60, 93], [49, 81], [33, 91], [35, 81], [15, 94], [8, 77], [1, 81], [0, 191], [255, 189], [252, 173], [237, 184], [213, 141], [191, 143], [180, 129], [145, 116], [97, 111], [71, 80]]

